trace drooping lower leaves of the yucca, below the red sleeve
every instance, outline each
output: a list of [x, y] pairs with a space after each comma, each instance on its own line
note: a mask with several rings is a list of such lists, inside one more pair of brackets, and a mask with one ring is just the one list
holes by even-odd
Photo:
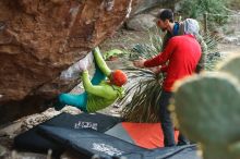
[[121, 102], [131, 101], [123, 108], [122, 117], [130, 122], [159, 122], [158, 107], [161, 93], [163, 74], [156, 75], [148, 70], [127, 69], [130, 87]]

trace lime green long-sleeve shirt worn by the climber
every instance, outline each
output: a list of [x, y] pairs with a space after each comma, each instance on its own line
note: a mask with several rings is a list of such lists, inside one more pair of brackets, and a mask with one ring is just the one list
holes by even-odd
[[[94, 58], [100, 71], [106, 76], [109, 76], [111, 74], [111, 70], [107, 66], [99, 50], [95, 49]], [[83, 72], [82, 80], [85, 91], [87, 93], [87, 112], [95, 112], [97, 110], [104, 109], [112, 105], [116, 101], [116, 99], [122, 98], [124, 95], [123, 87], [111, 85], [106, 80], [101, 81], [99, 85], [93, 85], [91, 83], [87, 71]]]

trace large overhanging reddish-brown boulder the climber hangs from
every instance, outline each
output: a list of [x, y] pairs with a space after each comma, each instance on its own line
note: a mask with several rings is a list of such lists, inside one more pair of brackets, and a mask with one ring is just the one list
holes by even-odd
[[110, 36], [132, 0], [0, 0], [0, 124], [45, 110], [59, 74]]

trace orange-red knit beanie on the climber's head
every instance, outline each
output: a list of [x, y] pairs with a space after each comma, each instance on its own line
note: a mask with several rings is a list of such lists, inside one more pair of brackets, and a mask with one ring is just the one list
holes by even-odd
[[111, 83], [121, 87], [124, 85], [128, 81], [128, 76], [124, 72], [121, 70], [116, 70], [115, 72], [111, 73]]

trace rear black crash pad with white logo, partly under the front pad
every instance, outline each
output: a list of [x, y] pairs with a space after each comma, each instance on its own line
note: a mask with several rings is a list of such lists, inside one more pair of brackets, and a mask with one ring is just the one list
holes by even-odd
[[[101, 113], [81, 113], [77, 115], [61, 113], [39, 125], [59, 126], [73, 130], [89, 129], [98, 132], [106, 132], [117, 123], [121, 122], [120, 118], [110, 117]], [[50, 138], [44, 137], [39, 133], [39, 125], [17, 135], [14, 138], [14, 146], [19, 150], [34, 152], [47, 152], [52, 149], [53, 154], [61, 154], [64, 147]]]

